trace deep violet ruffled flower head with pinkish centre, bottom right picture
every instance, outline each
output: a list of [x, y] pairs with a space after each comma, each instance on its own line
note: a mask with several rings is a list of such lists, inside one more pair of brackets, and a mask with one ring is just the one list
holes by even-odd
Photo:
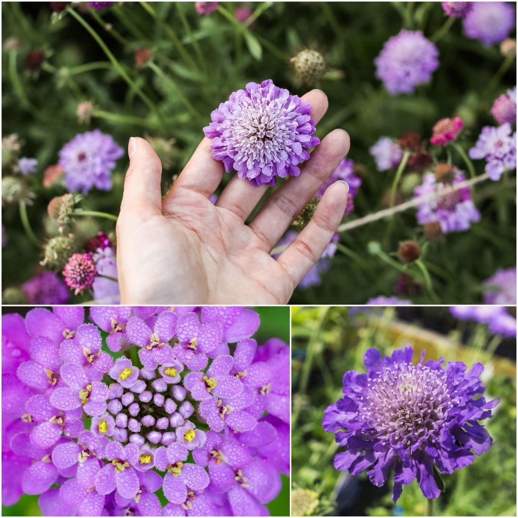
[[376, 486], [394, 470], [394, 502], [414, 479], [426, 498], [437, 498], [434, 471], [469, 466], [492, 443], [480, 421], [491, 418], [499, 400], [481, 396], [482, 364], [466, 371], [462, 362], [442, 366], [444, 358], [424, 362], [424, 354], [414, 365], [410, 347], [385, 357], [369, 349], [367, 372], [346, 372], [343, 397], [324, 412], [324, 430], [347, 447], [335, 456], [335, 468], [352, 475], [368, 470]]

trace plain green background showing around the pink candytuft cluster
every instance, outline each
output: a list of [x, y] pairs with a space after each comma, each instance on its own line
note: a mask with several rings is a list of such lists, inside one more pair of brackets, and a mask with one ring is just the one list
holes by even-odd
[[[32, 308], [23, 307], [2, 307], [2, 314], [19, 313], [25, 316]], [[261, 318], [261, 324], [254, 335], [254, 339], [258, 344], [264, 343], [270, 338], [280, 338], [286, 343], [290, 343], [290, 308], [286, 306], [278, 307], [256, 307], [253, 308]], [[89, 322], [88, 308], [85, 308], [85, 322]], [[102, 332], [103, 339], [106, 339], [107, 333]], [[103, 350], [113, 356], [120, 356], [121, 353], [113, 353], [108, 349], [106, 343], [103, 344]], [[277, 498], [272, 500], [266, 506], [271, 516], [287, 516], [290, 514], [290, 479], [285, 475], [281, 475], [282, 489]], [[162, 503], [167, 502], [160, 490], [157, 494], [162, 498]], [[38, 506], [37, 495], [23, 495], [18, 503], [13, 506], [2, 506], [3, 516], [41, 516], [41, 510]]]

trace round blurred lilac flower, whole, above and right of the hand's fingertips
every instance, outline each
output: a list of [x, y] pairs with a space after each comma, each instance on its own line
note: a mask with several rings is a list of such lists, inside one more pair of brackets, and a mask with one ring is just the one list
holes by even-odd
[[420, 31], [401, 31], [385, 42], [375, 59], [376, 77], [392, 95], [412, 93], [439, 66], [437, 47]]

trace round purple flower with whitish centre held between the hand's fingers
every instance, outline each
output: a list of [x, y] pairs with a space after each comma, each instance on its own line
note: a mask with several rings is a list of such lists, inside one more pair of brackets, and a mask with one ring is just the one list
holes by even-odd
[[212, 157], [252, 185], [274, 185], [277, 176], [298, 176], [298, 164], [308, 160], [308, 149], [320, 142], [311, 136], [311, 105], [271, 79], [233, 92], [211, 118], [204, 132], [212, 139]]

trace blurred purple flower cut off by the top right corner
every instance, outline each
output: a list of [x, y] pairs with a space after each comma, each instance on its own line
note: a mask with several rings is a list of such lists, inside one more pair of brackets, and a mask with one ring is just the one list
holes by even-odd
[[505, 40], [512, 31], [516, 15], [507, 2], [473, 2], [465, 16], [464, 32], [469, 38], [480, 39], [489, 46]]

